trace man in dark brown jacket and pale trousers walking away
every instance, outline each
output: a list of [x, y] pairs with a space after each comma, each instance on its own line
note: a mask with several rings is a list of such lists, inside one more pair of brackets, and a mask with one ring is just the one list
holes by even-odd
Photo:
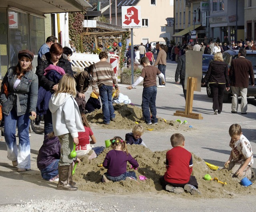
[[241, 93], [241, 113], [247, 114], [247, 88], [249, 85], [249, 75], [251, 86], [254, 86], [254, 73], [252, 69], [252, 62], [245, 59], [246, 50], [239, 49], [238, 58], [232, 59], [229, 77], [232, 89], [232, 105], [231, 113], [237, 113], [238, 109], [238, 95]]

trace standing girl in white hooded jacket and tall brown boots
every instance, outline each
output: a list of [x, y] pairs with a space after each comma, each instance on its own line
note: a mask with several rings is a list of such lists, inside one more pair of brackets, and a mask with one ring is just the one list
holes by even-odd
[[[76, 97], [76, 81], [71, 75], [65, 74], [49, 102], [54, 135], [58, 136], [61, 145], [57, 186], [59, 190], [77, 190], [74, 186], [76, 183], [72, 180], [73, 158], [70, 153], [74, 144], [78, 144], [78, 132], [84, 132], [84, 126], [74, 97]], [[75, 160], [79, 162], [79, 159]]]

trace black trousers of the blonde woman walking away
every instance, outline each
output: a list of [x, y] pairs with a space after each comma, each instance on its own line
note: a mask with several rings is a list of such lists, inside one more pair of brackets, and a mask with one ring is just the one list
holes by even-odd
[[223, 93], [226, 85], [219, 83], [210, 83], [210, 88], [212, 92], [212, 109], [213, 111], [218, 110], [218, 112], [222, 111], [222, 103], [223, 103]]

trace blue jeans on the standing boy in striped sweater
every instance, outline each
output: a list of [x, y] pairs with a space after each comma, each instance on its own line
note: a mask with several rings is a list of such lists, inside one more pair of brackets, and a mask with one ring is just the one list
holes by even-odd
[[115, 110], [112, 103], [112, 86], [102, 85], [100, 88], [100, 99], [102, 103], [103, 122], [110, 123], [115, 118]]

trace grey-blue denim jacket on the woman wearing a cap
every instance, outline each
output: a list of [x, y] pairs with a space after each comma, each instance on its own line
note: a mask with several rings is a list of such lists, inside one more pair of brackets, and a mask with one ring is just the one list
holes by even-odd
[[[17, 79], [17, 75], [14, 74], [16, 67], [10, 67], [4, 76], [1, 86], [0, 102], [2, 104], [2, 113], [9, 115], [10, 111], [14, 107], [17, 116], [36, 112], [36, 103], [38, 97], [38, 78], [35, 73], [28, 71], [21, 77], [21, 81], [14, 89], [13, 85]], [[3, 85], [8, 87], [8, 96], [4, 94]]]

